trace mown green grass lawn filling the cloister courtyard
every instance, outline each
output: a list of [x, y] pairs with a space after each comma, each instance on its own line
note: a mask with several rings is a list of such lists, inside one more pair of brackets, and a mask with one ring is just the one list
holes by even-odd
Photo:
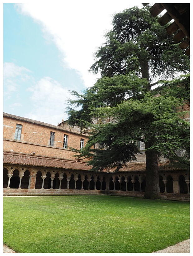
[[107, 195], [3, 198], [19, 253], [151, 253], [190, 238], [190, 204]]

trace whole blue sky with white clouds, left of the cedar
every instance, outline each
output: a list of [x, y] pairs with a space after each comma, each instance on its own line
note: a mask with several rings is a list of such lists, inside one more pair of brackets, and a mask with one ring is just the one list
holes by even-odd
[[68, 91], [95, 83], [98, 76], [88, 72], [93, 54], [112, 15], [132, 6], [128, 0], [4, 3], [3, 111], [53, 125], [67, 119]]

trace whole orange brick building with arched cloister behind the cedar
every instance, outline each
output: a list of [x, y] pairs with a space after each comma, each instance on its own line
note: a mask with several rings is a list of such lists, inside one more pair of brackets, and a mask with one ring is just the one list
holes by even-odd
[[[88, 134], [70, 129], [62, 120], [58, 126], [3, 113], [3, 194], [64, 195], [114, 194], [143, 197], [146, 165], [143, 145], [138, 161], [118, 173], [90, 171], [70, 148], [80, 149]], [[190, 200], [190, 174], [167, 160], [159, 162], [163, 199]]]

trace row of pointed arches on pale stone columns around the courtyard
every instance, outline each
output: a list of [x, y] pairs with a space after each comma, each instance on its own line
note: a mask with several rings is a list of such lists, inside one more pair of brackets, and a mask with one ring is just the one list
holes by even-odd
[[[190, 194], [190, 178], [185, 173], [161, 173], [161, 193]], [[144, 192], [145, 173], [92, 173], [80, 170], [44, 170], [5, 166], [4, 189], [115, 190]]]

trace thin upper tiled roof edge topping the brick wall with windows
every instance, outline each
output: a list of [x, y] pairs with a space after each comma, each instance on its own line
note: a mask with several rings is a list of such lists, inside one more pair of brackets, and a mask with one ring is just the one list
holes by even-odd
[[28, 123], [33, 123], [33, 124], [37, 124], [37, 125], [41, 125], [41, 126], [54, 128], [56, 130], [68, 131], [68, 132], [71, 132], [71, 133], [74, 133], [74, 134], [79, 134], [79, 135], [83, 135], [85, 137], [88, 137], [88, 135], [86, 135], [84, 133], [81, 133], [81, 132], [78, 132], [78, 131], [75, 131], [75, 130], [64, 128], [64, 127], [61, 127], [61, 126], [54, 126], [54, 125], [51, 125], [51, 124], [47, 124], [47, 123], [40, 122], [40, 121], [37, 121], [37, 120], [25, 118], [25, 117], [22, 117], [22, 116], [15, 116], [15, 115], [8, 114], [8, 113], [5, 113], [5, 112], [3, 112], [3, 116], [9, 117], [9, 118], [12, 118], [12, 119], [21, 120], [21, 121], [28, 122]]

